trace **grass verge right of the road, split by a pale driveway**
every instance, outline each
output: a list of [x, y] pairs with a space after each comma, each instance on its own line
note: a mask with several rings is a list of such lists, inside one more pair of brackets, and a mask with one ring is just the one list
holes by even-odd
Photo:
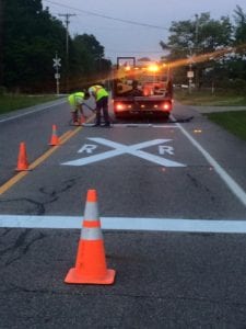
[[[175, 99], [184, 105], [194, 106], [246, 106], [246, 95], [236, 95], [233, 92], [218, 93], [194, 91], [175, 91]], [[246, 111], [226, 111], [204, 114], [206, 117], [222, 126], [238, 138], [246, 140]]]

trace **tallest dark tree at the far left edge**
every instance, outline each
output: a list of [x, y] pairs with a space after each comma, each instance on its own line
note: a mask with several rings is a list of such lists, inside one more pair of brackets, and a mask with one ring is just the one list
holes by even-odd
[[61, 22], [43, 10], [40, 0], [5, 1], [4, 18], [4, 84], [48, 90], [54, 80], [52, 57], [63, 52]]

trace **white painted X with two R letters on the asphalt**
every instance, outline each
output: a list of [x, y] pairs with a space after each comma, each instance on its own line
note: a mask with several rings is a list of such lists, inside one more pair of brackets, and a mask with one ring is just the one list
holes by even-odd
[[[92, 141], [95, 141], [97, 144], [101, 145], [105, 145], [108, 147], [113, 147], [114, 150], [109, 150], [109, 151], [105, 151], [98, 155], [94, 155], [94, 156], [90, 156], [86, 158], [80, 158], [78, 160], [73, 160], [73, 161], [68, 161], [68, 162], [63, 162], [61, 164], [65, 166], [85, 166], [85, 164], [90, 164], [93, 162], [97, 162], [97, 161], [102, 161], [102, 160], [106, 160], [113, 157], [117, 157], [124, 154], [128, 154], [128, 155], [132, 155], [136, 157], [139, 157], [141, 159], [164, 166], [164, 167], [186, 167], [186, 164], [176, 162], [176, 161], [172, 161], [159, 156], [154, 156], [151, 154], [148, 154], [143, 150], [140, 150], [142, 148], [145, 147], [150, 147], [150, 146], [155, 146], [155, 145], [160, 145], [163, 143], [167, 143], [171, 141], [172, 139], [154, 139], [154, 140], [149, 140], [149, 141], [143, 141], [143, 143], [139, 143], [139, 144], [134, 144], [134, 145], [124, 145], [124, 144], [119, 144], [116, 141], [112, 141], [105, 138], [87, 138]], [[86, 152], [86, 154], [92, 154], [94, 149], [96, 149], [96, 145], [92, 145], [92, 144], [85, 144], [83, 145], [83, 147], [78, 151], [78, 152]], [[173, 155], [174, 154], [174, 149], [173, 147], [168, 147], [168, 146], [160, 146], [159, 147], [159, 151], [160, 155], [164, 155], [165, 152]]]

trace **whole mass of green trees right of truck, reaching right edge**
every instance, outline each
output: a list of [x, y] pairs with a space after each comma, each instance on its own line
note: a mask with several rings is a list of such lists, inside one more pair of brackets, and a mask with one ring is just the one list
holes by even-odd
[[197, 88], [215, 86], [236, 90], [242, 83], [235, 79], [246, 81], [246, 14], [238, 5], [234, 21], [235, 24], [227, 16], [213, 20], [210, 13], [201, 13], [194, 20], [172, 22], [168, 42], [160, 45], [169, 50], [166, 59], [175, 64], [175, 83], [188, 83], [190, 65]]

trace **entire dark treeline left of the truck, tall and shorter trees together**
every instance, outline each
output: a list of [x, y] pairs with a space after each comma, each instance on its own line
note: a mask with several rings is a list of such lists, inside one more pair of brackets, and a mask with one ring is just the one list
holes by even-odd
[[42, 0], [0, 0], [1, 81], [8, 91], [54, 92], [52, 58], [61, 58], [60, 92], [104, 77], [110, 61], [94, 35], [69, 35]]

